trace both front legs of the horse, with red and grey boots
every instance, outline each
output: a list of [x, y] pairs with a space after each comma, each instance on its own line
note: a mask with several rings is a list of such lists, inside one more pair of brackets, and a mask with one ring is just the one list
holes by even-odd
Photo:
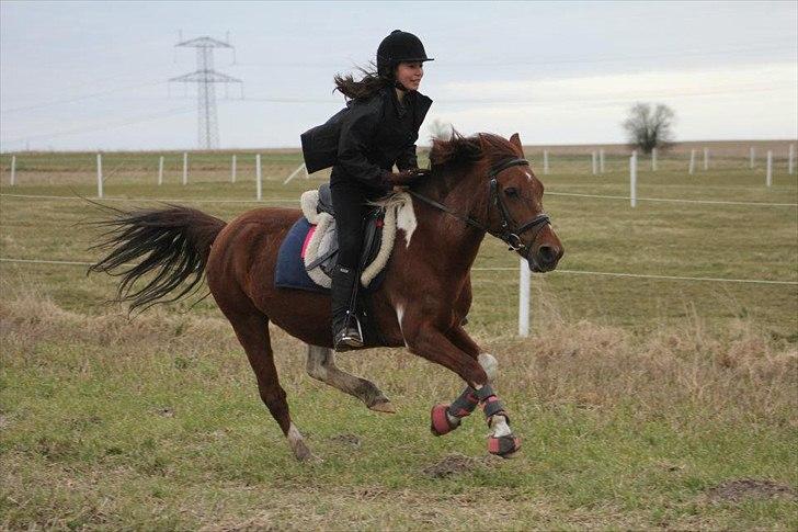
[[[500, 456], [515, 453], [521, 442], [510, 430], [506, 410], [490, 384], [495, 371], [495, 359], [490, 354], [479, 353], [477, 344], [461, 328], [454, 335], [451, 331], [444, 333], [433, 324], [419, 322], [418, 327], [402, 324], [402, 330], [414, 331], [404, 336], [413, 353], [448, 367], [468, 384], [452, 405], [433, 407], [433, 433], [441, 435], [454, 430], [463, 417], [471, 414], [477, 405], [481, 405], [491, 429], [488, 450]], [[479, 353], [477, 356], [472, 354], [475, 350]]]

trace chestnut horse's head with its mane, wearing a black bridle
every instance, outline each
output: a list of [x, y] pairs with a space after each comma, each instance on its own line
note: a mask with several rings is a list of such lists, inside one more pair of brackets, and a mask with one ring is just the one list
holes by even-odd
[[524, 159], [517, 133], [510, 140], [488, 133], [467, 138], [453, 133], [449, 140], [434, 142], [430, 159], [433, 168], [463, 167], [464, 184], [476, 186], [469, 191], [471, 220], [524, 257], [532, 271], [557, 268], [562, 244], [544, 212], [544, 186]]

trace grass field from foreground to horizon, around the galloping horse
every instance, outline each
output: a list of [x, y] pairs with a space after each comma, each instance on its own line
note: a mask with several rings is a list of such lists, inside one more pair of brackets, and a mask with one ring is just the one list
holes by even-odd
[[[716, 146], [717, 147], [717, 146]], [[714, 148], [715, 149], [715, 148]], [[779, 146], [778, 154], [785, 151]], [[757, 147], [759, 154], [762, 150]], [[729, 148], [728, 151], [733, 151]], [[585, 151], [585, 154], [589, 150]], [[719, 150], [719, 152], [721, 152]], [[783, 154], [782, 154], [783, 155]], [[582, 197], [628, 195], [628, 162], [604, 176], [554, 151], [545, 197], [566, 247], [560, 269], [798, 281], [795, 206]], [[190, 203], [252, 200], [238, 155], [105, 154], [105, 194]], [[746, 150], [687, 174], [683, 150], [638, 196], [796, 203], [777, 158], [774, 185]], [[3, 155], [0, 257], [87, 261], [96, 235], [94, 155]], [[298, 152], [264, 152], [264, 199], [293, 202], [324, 179], [282, 180]], [[700, 166], [699, 166], [700, 167]], [[144, 201], [113, 202], [127, 207]], [[281, 203], [286, 205], [288, 203]], [[255, 203], [193, 204], [231, 219]], [[486, 240], [476, 268], [515, 268]], [[444, 438], [429, 408], [461, 386], [402, 350], [341, 356], [399, 412], [380, 416], [304, 375], [301, 344], [274, 331], [295, 421], [323, 462], [294, 462], [258, 398], [235, 336], [193, 301], [128, 320], [104, 303], [112, 279], [75, 265], [0, 262], [0, 525], [11, 529], [583, 529], [798, 527], [798, 286], [554, 272], [533, 279], [533, 336], [515, 336], [517, 273], [474, 272], [468, 329], [500, 361], [497, 383], [523, 450], [486, 457], [474, 416]]]

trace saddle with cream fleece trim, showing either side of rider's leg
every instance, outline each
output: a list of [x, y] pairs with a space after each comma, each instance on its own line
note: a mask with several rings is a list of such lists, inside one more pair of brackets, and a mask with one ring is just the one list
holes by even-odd
[[[395, 194], [385, 202], [376, 203], [363, 220], [365, 230], [360, 271], [361, 284], [366, 288], [378, 285], [380, 273], [390, 258], [396, 240], [397, 211], [409, 200], [396, 197], [402, 195], [406, 196]], [[305, 192], [300, 205], [310, 224], [301, 250], [305, 271], [316, 284], [329, 288], [339, 249], [330, 185], [324, 183], [319, 190]]]

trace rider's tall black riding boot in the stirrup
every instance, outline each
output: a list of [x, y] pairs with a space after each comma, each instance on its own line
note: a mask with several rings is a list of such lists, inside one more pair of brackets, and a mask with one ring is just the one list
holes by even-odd
[[335, 351], [363, 347], [363, 336], [355, 312], [357, 270], [337, 265], [332, 272], [332, 338]]

